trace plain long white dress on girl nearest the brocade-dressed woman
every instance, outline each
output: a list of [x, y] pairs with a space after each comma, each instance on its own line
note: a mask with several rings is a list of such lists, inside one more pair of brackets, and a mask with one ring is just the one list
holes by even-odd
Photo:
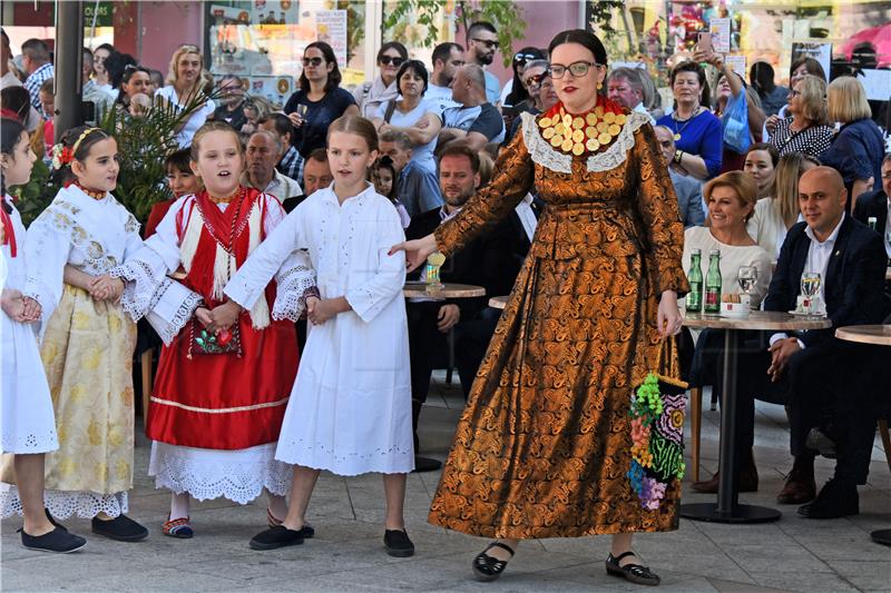
[[[414, 468], [405, 259], [388, 255], [404, 237], [399, 214], [371, 184], [342, 205], [327, 187], [294, 209], [226, 286], [233, 300], [253, 306], [296, 249], [312, 263], [321, 298], [344, 296], [352, 307], [311, 326], [276, 459], [339, 475]], [[291, 305], [296, 319], [303, 299]]]

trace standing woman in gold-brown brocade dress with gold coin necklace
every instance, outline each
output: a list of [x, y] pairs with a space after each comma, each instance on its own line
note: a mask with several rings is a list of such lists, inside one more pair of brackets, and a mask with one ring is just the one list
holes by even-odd
[[613, 534], [607, 572], [655, 585], [631, 534], [677, 528], [679, 480], [649, 500], [639, 478], [633, 487], [629, 406], [663, 339], [681, 329], [684, 229], [648, 118], [597, 93], [600, 41], [565, 31], [549, 55], [560, 102], [523, 115], [500, 174], [456, 218], [394, 247], [414, 268], [484, 233], [530, 189], [547, 202], [429, 521], [498, 538], [473, 561], [483, 581], [501, 574], [519, 540]]

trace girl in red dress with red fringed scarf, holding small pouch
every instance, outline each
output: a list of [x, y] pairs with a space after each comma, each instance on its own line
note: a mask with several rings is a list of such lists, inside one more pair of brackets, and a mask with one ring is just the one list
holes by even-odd
[[124, 307], [134, 319], [145, 316], [165, 344], [146, 432], [149, 474], [173, 492], [163, 533], [179, 538], [194, 534], [190, 497], [247, 504], [265, 488], [267, 521], [284, 518], [291, 467], [274, 454], [297, 338], [294, 324], [280, 319], [300, 317], [297, 303], [313, 285], [309, 260], [295, 254], [249, 312], [224, 303], [229, 276], [285, 213], [274, 196], [238, 184], [244, 152], [226, 122], [197, 130], [192, 169], [204, 189], [179, 198], [145, 247], [111, 273], [127, 279]]

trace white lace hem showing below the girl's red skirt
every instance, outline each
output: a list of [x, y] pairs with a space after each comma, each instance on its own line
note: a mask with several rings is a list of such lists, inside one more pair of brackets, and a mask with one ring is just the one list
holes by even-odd
[[275, 461], [275, 443], [237, 451], [180, 447], [151, 443], [148, 475], [155, 487], [207, 501], [224, 496], [247, 504], [266, 488], [285, 496], [293, 468]]

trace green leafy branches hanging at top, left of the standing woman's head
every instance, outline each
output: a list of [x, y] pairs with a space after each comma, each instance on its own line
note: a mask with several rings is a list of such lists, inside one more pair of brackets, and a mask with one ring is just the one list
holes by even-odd
[[[522, 8], [513, 0], [395, 0], [385, 6], [384, 38], [425, 48], [440, 42], [439, 26], [450, 9], [454, 10], [466, 31], [474, 21], [491, 22], [498, 30], [506, 67], [510, 66], [513, 57], [513, 43], [522, 40], [526, 32]], [[412, 17], [421, 30], [420, 36], [410, 27]]]

